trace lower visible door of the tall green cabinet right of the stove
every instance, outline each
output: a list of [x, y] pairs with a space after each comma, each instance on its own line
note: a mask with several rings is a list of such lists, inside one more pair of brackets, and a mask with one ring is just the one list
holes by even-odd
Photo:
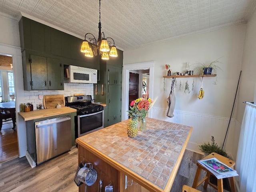
[[120, 85], [108, 86], [108, 116], [114, 116], [121, 113], [122, 108], [122, 90]]

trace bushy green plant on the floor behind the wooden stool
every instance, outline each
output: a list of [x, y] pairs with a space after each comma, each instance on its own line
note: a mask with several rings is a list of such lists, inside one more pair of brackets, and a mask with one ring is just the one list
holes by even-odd
[[212, 141], [211, 143], [208, 142], [208, 143], [203, 143], [203, 144], [199, 145], [198, 147], [199, 147], [200, 151], [202, 151], [206, 154], [210, 154], [212, 152], [215, 152], [215, 153], [218, 153], [218, 154], [220, 154], [224, 157], [229, 158], [226, 151], [222, 150], [222, 148], [220, 146], [218, 146], [218, 144], [215, 143], [214, 136], [212, 136], [211, 141]]

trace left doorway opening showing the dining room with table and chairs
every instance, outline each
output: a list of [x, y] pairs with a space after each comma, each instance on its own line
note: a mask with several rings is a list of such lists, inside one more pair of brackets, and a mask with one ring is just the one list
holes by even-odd
[[12, 61], [11, 55], [0, 54], [0, 163], [19, 156]]

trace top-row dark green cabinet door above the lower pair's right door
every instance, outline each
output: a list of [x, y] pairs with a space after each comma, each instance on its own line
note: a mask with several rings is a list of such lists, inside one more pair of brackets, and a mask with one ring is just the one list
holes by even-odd
[[61, 56], [61, 33], [59, 30], [51, 28], [51, 53]]

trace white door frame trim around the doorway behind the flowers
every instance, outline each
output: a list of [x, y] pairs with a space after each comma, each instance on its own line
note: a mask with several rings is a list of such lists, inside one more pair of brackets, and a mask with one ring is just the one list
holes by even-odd
[[[130, 77], [130, 70], [143, 70], [149, 69], [149, 82], [154, 82], [154, 61], [150, 62], [142, 62], [142, 63], [134, 63], [134, 64], [127, 64], [123, 65], [123, 90], [122, 90], [122, 121], [128, 119], [127, 112], [128, 109], [128, 102], [129, 102], [129, 77]], [[153, 84], [149, 84], [149, 92], [148, 97], [153, 99]], [[151, 110], [148, 111], [148, 117], [152, 117]]]

